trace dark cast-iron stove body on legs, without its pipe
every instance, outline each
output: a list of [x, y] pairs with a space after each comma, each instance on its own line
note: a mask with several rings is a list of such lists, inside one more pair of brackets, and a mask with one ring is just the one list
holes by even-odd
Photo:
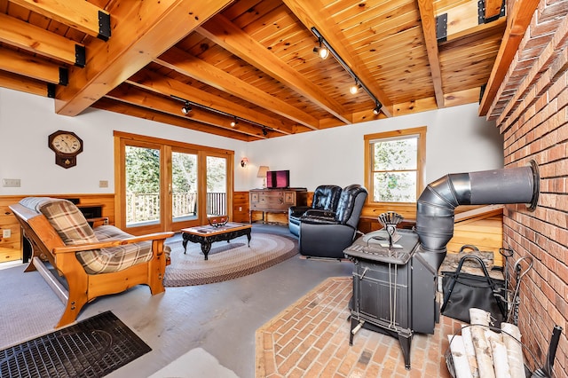
[[438, 268], [425, 258], [415, 232], [397, 234], [392, 247], [389, 234], [380, 230], [343, 251], [354, 263], [350, 345], [361, 327], [397, 337], [410, 369], [414, 332], [433, 334], [439, 321]]

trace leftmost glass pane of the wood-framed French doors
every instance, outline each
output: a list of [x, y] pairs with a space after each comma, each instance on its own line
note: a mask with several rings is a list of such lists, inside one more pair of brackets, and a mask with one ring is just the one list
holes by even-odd
[[160, 149], [125, 146], [126, 226], [160, 224]]

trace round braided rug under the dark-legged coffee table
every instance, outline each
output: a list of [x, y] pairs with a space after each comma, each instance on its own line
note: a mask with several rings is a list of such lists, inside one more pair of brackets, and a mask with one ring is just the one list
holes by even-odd
[[187, 242], [184, 254], [181, 238], [168, 243], [171, 264], [166, 266], [163, 285], [181, 287], [233, 280], [278, 264], [298, 253], [296, 243], [271, 233], [252, 232], [250, 247], [247, 237], [230, 242], [214, 242], [205, 261], [201, 244]]

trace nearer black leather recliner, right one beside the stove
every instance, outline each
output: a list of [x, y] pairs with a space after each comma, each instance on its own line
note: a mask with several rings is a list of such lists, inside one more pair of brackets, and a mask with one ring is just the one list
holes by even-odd
[[365, 200], [365, 187], [349, 185], [341, 193], [335, 217], [310, 215], [310, 211], [300, 217], [300, 253], [304, 256], [344, 258], [343, 249], [355, 240]]

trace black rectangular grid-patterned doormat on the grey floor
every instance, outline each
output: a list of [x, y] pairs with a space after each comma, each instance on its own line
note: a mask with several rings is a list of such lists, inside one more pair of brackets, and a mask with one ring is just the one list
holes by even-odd
[[150, 350], [106, 311], [0, 350], [0, 377], [102, 377]]

